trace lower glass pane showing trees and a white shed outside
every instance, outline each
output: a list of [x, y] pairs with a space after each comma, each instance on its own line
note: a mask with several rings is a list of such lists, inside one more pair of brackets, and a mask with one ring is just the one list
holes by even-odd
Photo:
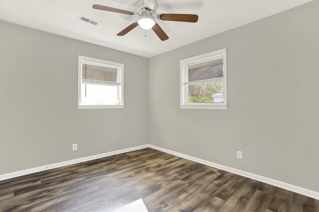
[[223, 103], [223, 81], [188, 85], [188, 103]]

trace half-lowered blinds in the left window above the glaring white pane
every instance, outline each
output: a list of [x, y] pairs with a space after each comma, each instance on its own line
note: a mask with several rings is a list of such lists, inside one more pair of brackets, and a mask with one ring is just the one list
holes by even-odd
[[82, 82], [88, 84], [120, 84], [121, 72], [115, 67], [84, 62], [82, 63]]

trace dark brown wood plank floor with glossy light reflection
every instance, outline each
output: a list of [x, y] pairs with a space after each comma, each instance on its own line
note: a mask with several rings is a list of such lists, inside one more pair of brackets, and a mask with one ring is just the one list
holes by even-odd
[[0, 211], [319, 212], [319, 201], [151, 148], [0, 181]]

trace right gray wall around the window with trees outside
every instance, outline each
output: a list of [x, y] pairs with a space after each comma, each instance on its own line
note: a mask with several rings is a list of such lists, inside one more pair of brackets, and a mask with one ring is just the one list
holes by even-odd
[[[319, 192], [318, 11], [315, 0], [149, 59], [150, 142]], [[179, 60], [222, 48], [228, 109], [180, 109]]]

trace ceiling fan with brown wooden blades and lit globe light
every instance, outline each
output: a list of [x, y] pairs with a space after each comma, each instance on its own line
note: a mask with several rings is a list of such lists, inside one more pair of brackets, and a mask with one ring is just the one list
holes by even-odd
[[138, 20], [119, 32], [118, 36], [126, 35], [132, 29], [140, 25], [143, 29], [153, 29], [153, 31], [159, 36], [160, 40], [164, 41], [168, 39], [167, 34], [162, 30], [160, 25], [155, 21], [156, 19], [165, 21], [182, 21], [196, 23], [198, 15], [195, 14], [156, 14], [158, 3], [156, 0], [138, 0], [136, 3], [137, 12], [131, 12], [123, 9], [117, 9], [109, 6], [103, 6], [94, 4], [94, 9], [100, 9], [110, 12], [118, 12], [127, 15], [139, 16]]

